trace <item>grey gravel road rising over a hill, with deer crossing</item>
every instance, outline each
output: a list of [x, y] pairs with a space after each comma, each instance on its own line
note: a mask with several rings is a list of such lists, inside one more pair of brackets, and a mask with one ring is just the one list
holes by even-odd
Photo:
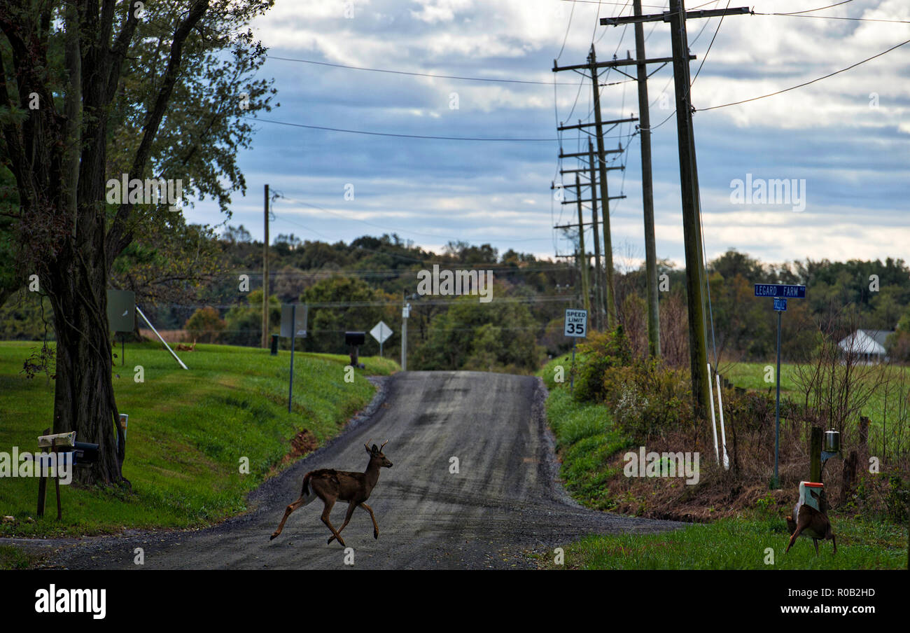
[[[591, 511], [555, 481], [556, 465], [543, 417], [545, 393], [530, 376], [480, 372], [405, 372], [388, 379], [386, 401], [354, 425], [250, 495], [251, 510], [204, 530], [86, 539], [59, 551], [69, 568], [486, 568], [532, 567], [529, 552], [551, 552], [590, 533], [656, 532], [667, 521]], [[384, 468], [369, 498], [379, 523], [354, 512], [342, 532], [354, 550], [326, 544], [322, 504], [298, 509], [269, 541], [303, 475], [317, 468], [363, 470], [363, 444], [389, 440]], [[451, 458], [459, 472], [450, 472]], [[335, 505], [332, 523], [344, 520]], [[134, 563], [142, 547], [145, 564]], [[350, 560], [350, 557], [348, 557]]]

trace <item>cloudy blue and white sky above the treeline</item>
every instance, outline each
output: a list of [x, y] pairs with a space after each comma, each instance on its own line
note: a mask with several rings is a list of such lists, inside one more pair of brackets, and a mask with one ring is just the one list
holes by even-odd
[[[834, 4], [754, 2], [763, 14]], [[727, 5], [690, 0], [686, 8]], [[645, 14], [665, 6], [643, 0]], [[251, 148], [241, 150], [248, 190], [245, 197], [234, 194], [229, 223], [262, 239], [268, 183], [282, 196], [272, 207], [273, 239], [293, 233], [335, 242], [397, 233], [437, 252], [450, 240], [465, 240], [539, 258], [571, 253], [571, 241], [552, 227], [577, 222], [577, 210], [560, 203], [551, 183], [573, 183], [571, 174], [558, 171], [578, 168], [577, 160], [560, 166], [557, 156], [560, 147], [586, 149], [587, 136], [567, 130], [560, 142], [556, 127], [592, 120], [592, 89], [577, 73], [553, 73], [553, 60], [582, 64], [591, 42], [599, 60], [634, 56], [633, 27], [599, 26], [597, 19], [631, 14], [632, 3], [621, 0], [277, 0], [252, 28], [268, 47], [260, 74], [274, 77], [281, 106], [259, 115]], [[853, 0], [800, 15], [688, 21], [708, 259], [734, 248], [766, 262], [910, 260], [910, 44], [773, 97], [703, 109], [804, 84], [910, 40], [910, 22], [895, 20], [910, 21], [910, 3]], [[669, 25], [644, 28], [647, 56], [671, 56]], [[682, 266], [672, 67], [649, 71], [657, 254]], [[634, 81], [615, 70], [602, 71], [600, 79], [611, 84], [601, 88], [604, 119], [638, 116]], [[510, 140], [396, 138], [295, 125]], [[611, 196], [626, 196], [610, 209], [613, 259], [621, 270], [636, 268], [644, 255], [635, 132], [634, 124], [622, 124], [605, 140], [606, 148], [624, 149], [608, 157], [625, 166], [608, 179]], [[784, 179], [789, 199], [756, 195]], [[564, 199], [574, 196], [567, 190]], [[197, 201], [186, 216], [224, 221], [209, 200]], [[585, 209], [585, 221], [590, 216]], [[590, 228], [586, 242], [591, 250]]]

